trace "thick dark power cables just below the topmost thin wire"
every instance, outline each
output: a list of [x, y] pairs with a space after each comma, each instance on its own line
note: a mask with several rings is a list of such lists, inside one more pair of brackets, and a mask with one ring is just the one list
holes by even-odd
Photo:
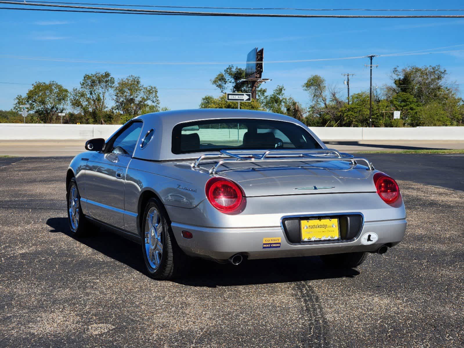
[[90, 13], [119, 13], [119, 14], [150, 14], [150, 15], [177, 15], [177, 16], [210, 16], [210, 17], [270, 17], [270, 18], [464, 18], [464, 15], [335, 15], [335, 14], [283, 14], [283, 13], [229, 13], [229, 12], [198, 12], [198, 11], [167, 11], [167, 10], [141, 10], [134, 8], [95, 7], [45, 4], [37, 2], [0, 1], [0, 4], [13, 4], [21, 6], [42, 6], [71, 8], [72, 10], [49, 8], [19, 8], [0, 7], [7, 10], [53, 11], [53, 12], [90, 12]]

